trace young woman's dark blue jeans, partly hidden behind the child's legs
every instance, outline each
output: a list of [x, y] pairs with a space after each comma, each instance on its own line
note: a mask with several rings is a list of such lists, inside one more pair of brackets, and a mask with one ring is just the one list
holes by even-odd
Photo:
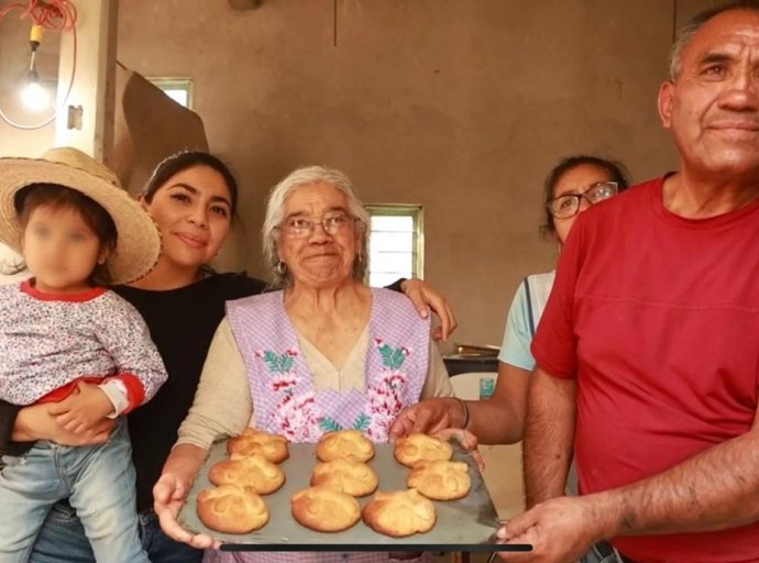
[[[140, 539], [153, 563], [200, 563], [202, 551], [172, 540], [158, 525], [155, 512], [139, 515]], [[85, 528], [75, 510], [65, 503], [53, 507], [40, 532], [31, 563], [94, 563], [95, 555], [85, 536]], [[110, 560], [107, 560], [110, 561]]]

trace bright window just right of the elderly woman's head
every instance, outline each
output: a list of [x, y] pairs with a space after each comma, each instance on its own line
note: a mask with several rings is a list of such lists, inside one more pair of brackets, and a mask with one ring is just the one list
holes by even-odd
[[422, 277], [424, 235], [420, 206], [366, 206], [369, 285], [384, 287], [399, 277]]

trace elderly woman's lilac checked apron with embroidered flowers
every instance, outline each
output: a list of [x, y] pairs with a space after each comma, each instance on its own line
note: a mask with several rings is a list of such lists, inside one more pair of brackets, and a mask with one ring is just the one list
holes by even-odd
[[[419, 400], [429, 360], [429, 319], [421, 319], [400, 294], [387, 289], [372, 289], [372, 294], [365, 386], [346, 393], [315, 388], [282, 291], [227, 303], [227, 319], [248, 369], [256, 428], [292, 442], [317, 442], [323, 433], [342, 429], [361, 430], [373, 442], [387, 441], [398, 412]], [[403, 561], [426, 560], [422, 555]], [[204, 561], [386, 563], [395, 556], [386, 552], [207, 551]]]

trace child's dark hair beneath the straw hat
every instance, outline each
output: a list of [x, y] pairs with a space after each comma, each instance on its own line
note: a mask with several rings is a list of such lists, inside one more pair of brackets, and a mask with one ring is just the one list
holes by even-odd
[[[19, 213], [22, 229], [26, 228], [34, 210], [41, 207], [53, 210], [73, 209], [79, 213], [85, 224], [100, 241], [100, 251], [107, 249], [113, 252], [116, 249], [119, 233], [111, 216], [100, 203], [75, 189], [56, 184], [31, 184], [15, 195], [13, 205]], [[21, 264], [18, 272], [24, 267], [25, 265]], [[108, 267], [105, 264], [96, 264], [88, 283], [94, 286], [108, 285], [110, 283]]]

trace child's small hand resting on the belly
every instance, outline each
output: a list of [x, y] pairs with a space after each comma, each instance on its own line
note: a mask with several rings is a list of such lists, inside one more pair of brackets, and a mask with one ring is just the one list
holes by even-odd
[[47, 412], [61, 428], [75, 434], [91, 432], [113, 412], [113, 404], [97, 385], [79, 383], [76, 390], [61, 402], [53, 402]]

